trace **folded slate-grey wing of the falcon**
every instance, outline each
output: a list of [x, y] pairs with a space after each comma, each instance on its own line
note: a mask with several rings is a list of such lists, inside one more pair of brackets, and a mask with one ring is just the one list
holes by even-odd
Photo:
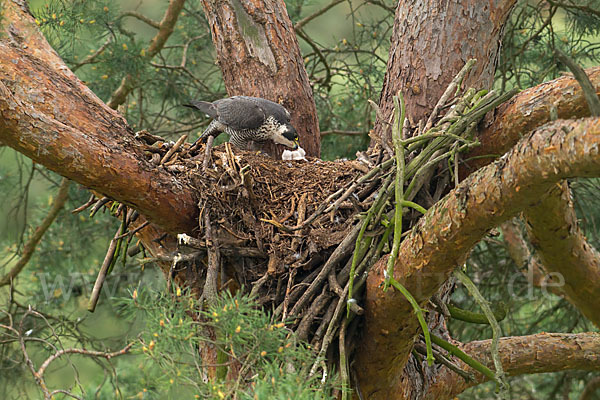
[[217, 119], [235, 130], [256, 129], [265, 121], [265, 113], [250, 97], [234, 96], [217, 100]]

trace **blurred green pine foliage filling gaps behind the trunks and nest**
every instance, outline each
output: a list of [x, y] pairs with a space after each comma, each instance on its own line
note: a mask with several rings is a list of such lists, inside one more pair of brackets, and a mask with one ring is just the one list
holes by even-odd
[[[294, 22], [329, 4], [321, 0], [286, 3]], [[147, 129], [172, 140], [182, 134], [193, 137], [208, 121], [181, 104], [226, 96], [198, 0], [186, 2], [175, 32], [151, 61], [144, 48], [155, 29], [138, 14], [158, 21], [164, 2], [38, 0], [30, 6], [54, 48], [104, 101], [126, 74], [135, 77], [136, 88], [119, 109], [134, 129]], [[374, 115], [367, 100], [379, 97], [394, 6], [390, 0], [343, 1], [297, 30], [324, 134], [322, 154], [326, 159], [353, 157], [368, 145]], [[565, 68], [553, 57], [553, 48], [581, 65], [600, 64], [599, 30], [596, 1], [520, 1], [506, 27], [496, 86], [501, 90], [526, 88], [559, 76]], [[0, 274], [22, 253], [23, 244], [47, 212], [59, 180], [52, 172], [0, 147]], [[598, 245], [599, 183], [577, 181], [573, 187], [587, 237]], [[109, 213], [90, 219], [85, 213], [68, 212], [88, 196], [86, 190], [71, 187], [65, 210], [15, 286], [0, 290], [0, 323], [7, 324], [10, 316], [15, 326], [21, 324], [24, 330], [31, 330], [29, 336], [42, 339], [28, 345], [30, 353], [36, 354], [36, 363], [55, 348], [114, 350], [135, 341], [132, 355], [110, 363], [73, 356], [52, 364], [50, 385], [73, 388], [85, 398], [114, 398], [115, 394], [126, 398], [227, 397], [232, 387], [224, 385], [224, 380], [206, 383], [197, 366], [197, 349], [206, 340], [202, 324], [189, 317], [190, 312], [198, 311], [197, 304], [185, 293], [167, 290], [156, 268], [148, 264], [140, 268], [143, 254], [118, 265], [105, 284], [106, 296], [99, 309], [95, 314], [85, 311], [96, 271], [118, 226]], [[509, 307], [502, 322], [505, 335], [593, 329], [565, 300], [528, 286], [508, 257], [501, 236], [482, 241], [467, 265], [468, 274], [485, 297]], [[462, 308], [476, 308], [462, 287], [457, 287], [453, 302]], [[325, 398], [333, 386], [321, 388], [315, 379], [306, 378], [306, 366], [311, 364], [309, 349], [296, 345], [284, 327], [273, 327], [268, 315], [253, 310], [250, 304], [246, 298], [229, 296], [205, 314], [206, 323], [220, 332], [211, 344], [239, 355], [243, 366], [257, 371], [249, 385], [236, 387], [243, 393], [238, 396]], [[29, 305], [44, 318], [28, 314]], [[453, 321], [450, 327], [462, 341], [491, 337], [485, 326]], [[38, 396], [18, 344], [1, 331], [0, 368], [0, 397]], [[511, 380], [512, 396], [576, 396], [590, 376], [564, 372], [518, 377]], [[334, 385], [335, 378], [328, 382]], [[490, 398], [492, 391], [493, 386], [482, 385], [462, 398]]]

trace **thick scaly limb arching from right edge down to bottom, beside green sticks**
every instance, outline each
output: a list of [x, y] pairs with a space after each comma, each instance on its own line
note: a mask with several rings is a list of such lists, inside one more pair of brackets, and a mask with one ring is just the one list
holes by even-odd
[[[561, 179], [600, 174], [600, 119], [556, 121], [471, 174], [433, 206], [401, 244], [394, 277], [423, 306], [486, 232], [535, 205]], [[369, 399], [411, 398], [402, 382], [418, 322], [396, 291], [383, 292], [385, 258], [370, 271], [365, 329], [357, 349], [359, 386]]]

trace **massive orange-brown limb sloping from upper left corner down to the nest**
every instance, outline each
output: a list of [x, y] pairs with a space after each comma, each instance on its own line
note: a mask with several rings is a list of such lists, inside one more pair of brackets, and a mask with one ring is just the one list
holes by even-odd
[[19, 2], [4, 5], [0, 140], [167, 231], [191, 232], [197, 214], [191, 189], [146, 161], [125, 119], [67, 68]]

